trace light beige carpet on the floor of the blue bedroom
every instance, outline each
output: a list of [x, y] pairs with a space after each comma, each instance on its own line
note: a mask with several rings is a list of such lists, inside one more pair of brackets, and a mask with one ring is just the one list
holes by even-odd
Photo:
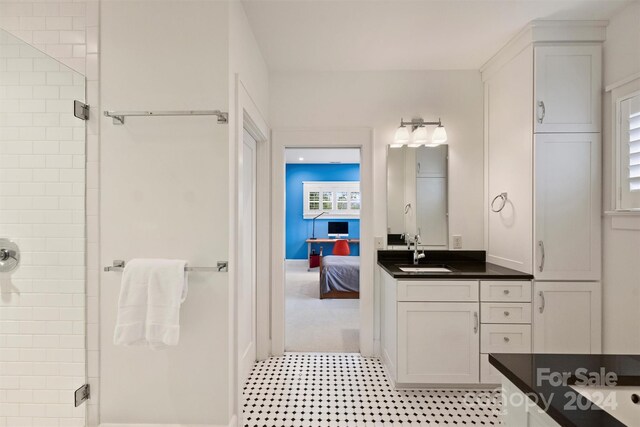
[[359, 352], [359, 300], [321, 300], [319, 283], [317, 268], [286, 261], [285, 351]]

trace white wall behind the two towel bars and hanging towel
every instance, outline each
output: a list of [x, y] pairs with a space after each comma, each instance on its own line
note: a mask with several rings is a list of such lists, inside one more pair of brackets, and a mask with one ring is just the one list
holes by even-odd
[[[229, 105], [228, 4], [102, 2], [101, 108]], [[214, 117], [101, 122], [101, 265], [135, 257], [215, 266], [229, 257], [229, 126]], [[101, 277], [101, 422], [227, 425], [229, 283], [190, 273], [180, 344], [112, 344], [119, 273]]]

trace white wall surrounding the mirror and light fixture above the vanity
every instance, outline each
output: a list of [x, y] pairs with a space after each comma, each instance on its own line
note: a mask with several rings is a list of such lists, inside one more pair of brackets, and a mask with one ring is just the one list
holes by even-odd
[[401, 117], [441, 117], [449, 137], [449, 235], [462, 235], [464, 249], [484, 249], [482, 97], [478, 71], [272, 72], [269, 117], [274, 129], [374, 129], [374, 233], [385, 237], [387, 144]]

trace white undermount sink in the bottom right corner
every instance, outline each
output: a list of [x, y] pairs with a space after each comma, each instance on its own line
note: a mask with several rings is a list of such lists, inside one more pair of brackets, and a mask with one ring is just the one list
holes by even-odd
[[638, 420], [640, 420], [640, 387], [574, 385], [571, 388], [621, 423], [628, 426], [638, 425]]

